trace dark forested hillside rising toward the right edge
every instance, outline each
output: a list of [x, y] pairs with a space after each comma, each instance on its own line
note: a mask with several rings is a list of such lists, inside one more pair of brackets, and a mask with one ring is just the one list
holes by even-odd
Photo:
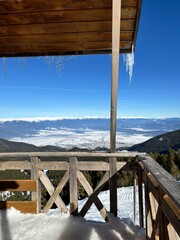
[[154, 138], [149, 139], [146, 142], [141, 144], [134, 145], [128, 148], [129, 151], [138, 151], [138, 152], [167, 152], [168, 149], [178, 150], [180, 149], [180, 129], [158, 135]]

